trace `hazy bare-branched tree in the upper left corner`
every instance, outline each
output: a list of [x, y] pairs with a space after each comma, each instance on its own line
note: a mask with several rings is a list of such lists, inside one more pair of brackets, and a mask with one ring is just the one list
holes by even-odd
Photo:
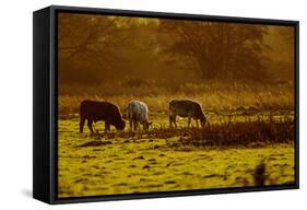
[[[71, 82], [103, 81], [125, 61], [131, 20], [120, 16], [59, 14], [60, 79]], [[114, 75], [116, 77], [116, 75]]]

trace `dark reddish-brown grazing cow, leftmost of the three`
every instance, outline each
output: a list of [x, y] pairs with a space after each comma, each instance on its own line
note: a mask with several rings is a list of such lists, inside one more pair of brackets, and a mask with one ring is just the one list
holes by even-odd
[[83, 132], [83, 126], [87, 120], [87, 126], [93, 133], [93, 121], [105, 121], [105, 130], [110, 130], [110, 125], [117, 130], [125, 129], [125, 120], [121, 117], [118, 106], [108, 102], [96, 102], [85, 100], [80, 104], [80, 132]]

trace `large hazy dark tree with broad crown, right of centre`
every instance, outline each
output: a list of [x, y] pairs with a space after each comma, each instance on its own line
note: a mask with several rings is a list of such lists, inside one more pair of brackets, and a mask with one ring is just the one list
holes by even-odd
[[263, 25], [161, 20], [160, 27], [173, 39], [166, 51], [184, 58], [201, 79], [260, 80], [265, 74]]

